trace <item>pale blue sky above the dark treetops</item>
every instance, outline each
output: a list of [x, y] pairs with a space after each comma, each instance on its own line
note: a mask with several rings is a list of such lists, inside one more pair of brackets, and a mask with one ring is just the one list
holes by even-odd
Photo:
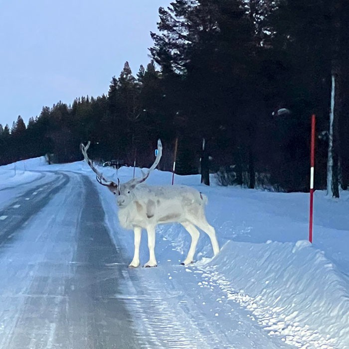
[[0, 0], [0, 124], [108, 92], [125, 61], [150, 61], [150, 31], [171, 0]]

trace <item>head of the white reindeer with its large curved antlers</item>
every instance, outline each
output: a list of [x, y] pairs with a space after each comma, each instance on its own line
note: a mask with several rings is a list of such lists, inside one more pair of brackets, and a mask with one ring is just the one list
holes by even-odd
[[120, 184], [120, 180], [118, 178], [118, 183], [112, 181], [112, 180], [107, 180], [103, 174], [101, 174], [94, 166], [92, 163], [92, 160], [88, 158], [87, 156], [87, 150], [90, 146], [90, 141], [87, 143], [86, 147], [81, 143], [80, 148], [81, 148], [81, 152], [84, 156], [84, 159], [86, 161], [86, 163], [90, 166], [90, 168], [92, 169], [92, 171], [96, 174], [96, 179], [97, 181], [108, 187], [108, 189], [114, 194], [117, 195], [117, 204], [119, 207], [124, 207], [127, 206], [131, 200], [134, 197], [134, 193], [133, 190], [136, 188], [136, 186], [140, 183], [143, 183], [148, 177], [149, 174], [158, 166], [161, 156], [163, 154], [163, 146], [161, 144], [160, 139], [158, 140], [158, 154], [157, 157], [155, 159], [154, 164], [151, 166], [151, 168], [148, 170], [147, 173], [144, 173], [142, 171], [142, 177], [140, 178], [133, 178], [129, 181], [127, 181], [126, 183], [122, 183]]

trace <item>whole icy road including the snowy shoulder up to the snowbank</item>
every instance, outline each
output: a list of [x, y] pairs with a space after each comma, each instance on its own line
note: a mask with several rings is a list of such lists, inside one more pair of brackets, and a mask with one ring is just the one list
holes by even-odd
[[291, 348], [214, 272], [127, 268], [90, 178], [42, 174], [0, 191], [0, 349]]

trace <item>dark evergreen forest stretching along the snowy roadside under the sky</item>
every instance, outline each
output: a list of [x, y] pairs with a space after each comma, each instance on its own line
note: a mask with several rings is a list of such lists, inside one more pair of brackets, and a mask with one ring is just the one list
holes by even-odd
[[307, 191], [315, 113], [315, 187], [326, 187], [330, 154], [334, 195], [348, 188], [349, 1], [176, 0], [159, 16], [146, 68], [126, 62], [107, 95], [0, 126], [0, 165], [81, 160], [90, 140], [96, 160], [149, 166], [161, 138], [170, 171], [177, 138], [178, 174], [202, 159], [237, 184]]

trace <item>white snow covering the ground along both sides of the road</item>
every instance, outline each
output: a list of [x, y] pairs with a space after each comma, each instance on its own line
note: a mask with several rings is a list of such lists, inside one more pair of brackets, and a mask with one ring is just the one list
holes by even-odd
[[[0, 167], [0, 210], [8, 195], [40, 180], [43, 171], [95, 177], [83, 162], [48, 166], [43, 158], [32, 159], [17, 163], [15, 175], [13, 164]], [[117, 177], [116, 170], [101, 171]], [[132, 168], [118, 171], [121, 182], [132, 175]], [[171, 179], [171, 173], [156, 170], [147, 183], [170, 185]], [[135, 314], [135, 330], [151, 337], [153, 347], [148, 341], [148, 348], [196, 348], [190, 342], [194, 328], [210, 336], [196, 335], [202, 348], [349, 348], [349, 192], [341, 192], [339, 200], [315, 192], [311, 245], [309, 194], [220, 187], [214, 180], [207, 187], [196, 175], [176, 175], [174, 181], [208, 196], [207, 220], [216, 229], [221, 251], [212, 259], [208, 237], [201, 233], [196, 262], [180, 266], [190, 237], [179, 224], [163, 225], [157, 230], [158, 267], [132, 270], [127, 264], [133, 256], [133, 233], [120, 228], [114, 196], [94, 181], [114, 243], [127, 258], [124, 274], [130, 281], [125, 289], [132, 298], [140, 285], [148, 285], [143, 297], [127, 304]], [[144, 264], [149, 255], [143, 237]], [[149, 313], [140, 310], [142, 302]], [[188, 313], [190, 324], [183, 324]]]

